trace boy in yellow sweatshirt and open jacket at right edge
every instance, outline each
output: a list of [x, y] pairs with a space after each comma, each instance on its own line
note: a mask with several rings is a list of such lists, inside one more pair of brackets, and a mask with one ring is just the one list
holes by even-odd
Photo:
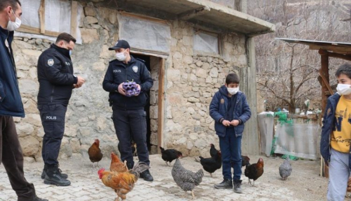
[[327, 200], [343, 201], [351, 167], [351, 65], [341, 65], [335, 76], [337, 93], [325, 107], [320, 154], [329, 166]]

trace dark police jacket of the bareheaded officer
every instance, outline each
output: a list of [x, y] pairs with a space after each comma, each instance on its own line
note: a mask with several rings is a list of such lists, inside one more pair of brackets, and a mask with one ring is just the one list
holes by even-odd
[[68, 105], [73, 84], [78, 78], [73, 75], [73, 64], [69, 50], [55, 44], [45, 50], [38, 60], [38, 105]]

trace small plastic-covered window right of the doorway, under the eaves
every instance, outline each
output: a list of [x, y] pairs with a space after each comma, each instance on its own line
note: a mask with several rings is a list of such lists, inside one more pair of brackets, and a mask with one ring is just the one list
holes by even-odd
[[198, 55], [218, 56], [218, 35], [199, 32], [194, 35], [194, 53]]

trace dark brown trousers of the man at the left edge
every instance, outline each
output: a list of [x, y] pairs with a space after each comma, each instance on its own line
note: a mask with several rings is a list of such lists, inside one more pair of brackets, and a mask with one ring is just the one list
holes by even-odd
[[23, 153], [13, 117], [0, 116], [0, 164], [3, 162], [18, 201], [35, 197], [35, 188], [29, 183], [23, 171]]

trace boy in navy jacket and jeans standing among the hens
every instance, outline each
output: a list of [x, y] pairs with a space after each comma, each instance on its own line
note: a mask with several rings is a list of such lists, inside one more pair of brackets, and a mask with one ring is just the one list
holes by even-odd
[[215, 188], [233, 188], [234, 185], [234, 192], [242, 193], [241, 138], [244, 123], [249, 120], [251, 111], [245, 94], [239, 91], [239, 81], [237, 74], [227, 75], [225, 85], [219, 89], [211, 101], [210, 116], [215, 120], [215, 130], [222, 152], [223, 181], [215, 184]]

